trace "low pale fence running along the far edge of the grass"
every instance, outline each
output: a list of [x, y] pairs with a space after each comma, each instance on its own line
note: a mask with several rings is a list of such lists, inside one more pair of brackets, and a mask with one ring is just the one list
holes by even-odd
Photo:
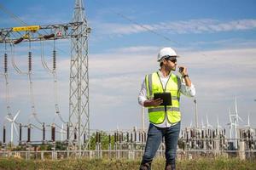
[[[19, 157], [26, 160], [44, 159], [68, 159], [68, 158], [87, 158], [87, 159], [141, 159], [144, 150], [39, 150], [39, 151], [7, 151], [1, 150], [1, 157]], [[177, 150], [177, 160], [196, 159], [200, 157], [227, 158], [237, 157], [256, 161], [256, 150]], [[165, 157], [165, 150], [158, 150], [156, 157]]]

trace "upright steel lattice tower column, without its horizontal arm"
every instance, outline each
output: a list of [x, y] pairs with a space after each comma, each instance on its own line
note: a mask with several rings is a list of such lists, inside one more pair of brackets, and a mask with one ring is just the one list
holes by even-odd
[[[71, 38], [71, 65], [69, 91], [69, 144], [82, 149], [82, 139], [90, 138], [89, 77], [88, 77], [88, 34], [90, 28], [84, 15], [83, 0], [75, 0]], [[75, 36], [81, 35], [81, 36]], [[87, 147], [88, 144], [85, 144]]]

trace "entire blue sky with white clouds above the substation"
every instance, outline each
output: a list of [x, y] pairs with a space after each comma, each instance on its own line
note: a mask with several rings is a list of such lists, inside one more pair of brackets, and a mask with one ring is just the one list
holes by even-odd
[[[27, 25], [70, 22], [74, 7], [74, 2], [67, 0], [1, 0], [0, 4]], [[141, 126], [137, 94], [144, 75], [158, 69], [159, 49], [167, 46], [183, 56], [178, 64], [189, 68], [197, 92], [200, 124], [201, 120], [206, 124], [208, 116], [210, 123], [216, 125], [218, 116], [220, 124], [226, 126], [228, 109], [235, 111], [236, 96], [239, 115], [244, 120], [241, 126], [247, 124], [250, 113], [251, 124], [256, 127], [255, 1], [87, 0], [84, 5], [92, 28], [89, 38], [91, 128], [114, 130]], [[0, 27], [13, 26], [20, 23], [0, 10]], [[61, 48], [58, 51], [59, 99], [61, 114], [66, 119], [70, 51], [63, 47], [67, 44], [56, 43]], [[0, 47], [2, 57], [3, 46]], [[20, 45], [20, 56], [25, 55], [22, 48], [26, 45]], [[52, 77], [44, 72], [39, 57], [34, 60], [38, 117], [43, 122], [52, 122]], [[22, 66], [24, 59], [20, 57], [17, 62]], [[3, 77], [0, 82], [2, 129], [6, 115]], [[17, 76], [10, 66], [9, 82], [12, 109], [20, 110], [17, 120], [26, 123], [30, 111], [27, 78]], [[182, 111], [183, 127], [189, 126], [191, 120], [195, 123], [193, 99], [183, 97]]]

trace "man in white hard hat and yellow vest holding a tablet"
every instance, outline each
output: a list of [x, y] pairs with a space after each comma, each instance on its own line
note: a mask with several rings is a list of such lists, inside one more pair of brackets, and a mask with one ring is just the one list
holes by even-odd
[[[175, 170], [177, 139], [180, 132], [181, 113], [179, 110], [180, 94], [193, 97], [195, 87], [189, 79], [188, 70], [179, 66], [182, 77], [172, 71], [177, 69], [177, 54], [172, 48], [162, 48], [158, 54], [160, 70], [146, 75], [138, 102], [148, 107], [149, 127], [143, 161], [140, 170], [151, 168], [151, 162], [159, 148], [162, 138], [166, 144], [166, 170]], [[171, 93], [172, 105], [161, 105], [162, 99], [154, 99], [155, 93]]]

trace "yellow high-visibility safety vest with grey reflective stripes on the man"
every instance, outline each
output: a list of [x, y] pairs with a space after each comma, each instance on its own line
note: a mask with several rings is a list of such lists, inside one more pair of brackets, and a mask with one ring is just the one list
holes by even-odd
[[147, 97], [148, 99], [154, 98], [154, 93], [171, 93], [172, 95], [172, 105], [165, 106], [160, 105], [156, 107], [148, 107], [149, 122], [154, 124], [160, 124], [165, 121], [166, 114], [167, 120], [170, 123], [180, 122], [181, 113], [179, 111], [179, 99], [180, 99], [180, 87], [181, 79], [174, 74], [171, 74], [168, 81], [166, 82], [166, 87], [163, 87], [162, 82], [160, 82], [160, 76], [158, 72], [154, 72], [145, 77]]

